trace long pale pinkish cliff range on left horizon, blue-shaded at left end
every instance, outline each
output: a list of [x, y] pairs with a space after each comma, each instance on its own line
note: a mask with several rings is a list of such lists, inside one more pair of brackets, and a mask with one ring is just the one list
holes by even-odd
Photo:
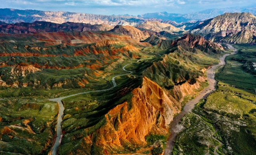
[[15, 22], [35, 22], [46, 21], [54, 23], [64, 22], [79, 22], [90, 24], [107, 24], [116, 26], [131, 25], [135, 26], [145, 22], [145, 19], [135, 16], [125, 15], [95, 15], [75, 12], [53, 12], [53, 11], [39, 11], [39, 10], [16, 10], [16, 9], [1, 9], [0, 20], [9, 23]]

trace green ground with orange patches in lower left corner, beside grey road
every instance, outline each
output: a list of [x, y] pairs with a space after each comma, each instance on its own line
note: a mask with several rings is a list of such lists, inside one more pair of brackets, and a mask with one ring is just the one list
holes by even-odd
[[54, 140], [58, 105], [41, 99], [0, 101], [0, 151], [43, 154]]

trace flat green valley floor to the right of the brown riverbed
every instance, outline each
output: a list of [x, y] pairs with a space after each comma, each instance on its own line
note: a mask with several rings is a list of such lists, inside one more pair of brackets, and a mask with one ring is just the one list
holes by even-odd
[[178, 132], [172, 128], [166, 155], [172, 146], [173, 155], [255, 154], [256, 77], [246, 70], [246, 62], [255, 62], [256, 50], [234, 47], [239, 52], [228, 56], [225, 67], [216, 73], [217, 90], [179, 118]]

